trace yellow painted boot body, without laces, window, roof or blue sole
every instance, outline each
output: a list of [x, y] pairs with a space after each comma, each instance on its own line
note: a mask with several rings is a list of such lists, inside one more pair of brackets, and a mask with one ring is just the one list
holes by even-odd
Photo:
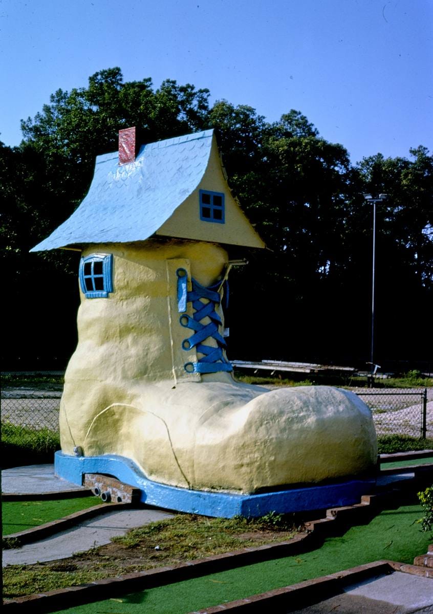
[[120, 454], [151, 480], [243, 493], [373, 467], [372, 416], [356, 395], [321, 386], [267, 391], [229, 373], [185, 372], [197, 356], [181, 348], [192, 331], [179, 324], [176, 270], [209, 286], [224, 275], [222, 247], [149, 240], [83, 255], [95, 252], [113, 254], [114, 292], [81, 297], [61, 400], [65, 453]]

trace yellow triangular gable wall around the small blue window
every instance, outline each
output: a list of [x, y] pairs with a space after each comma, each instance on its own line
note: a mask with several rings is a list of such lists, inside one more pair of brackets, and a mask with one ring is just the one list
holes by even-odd
[[[204, 222], [200, 219], [199, 190], [224, 193], [224, 224]], [[208, 167], [197, 189], [163, 223], [156, 234], [244, 247], [265, 247], [262, 239], [257, 235], [230, 193], [230, 188], [222, 174], [215, 136], [213, 136]]]

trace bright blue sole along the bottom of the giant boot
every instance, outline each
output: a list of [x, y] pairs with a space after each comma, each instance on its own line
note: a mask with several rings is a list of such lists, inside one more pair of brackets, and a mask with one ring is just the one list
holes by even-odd
[[203, 516], [258, 517], [270, 511], [292, 513], [359, 503], [373, 491], [375, 480], [348, 480], [338, 484], [308, 486], [265, 494], [240, 495], [227, 492], [194, 491], [148, 480], [139, 467], [122, 456], [69, 456], [55, 453], [56, 475], [82, 484], [85, 473], [103, 473], [141, 490], [141, 502], [168, 510]]

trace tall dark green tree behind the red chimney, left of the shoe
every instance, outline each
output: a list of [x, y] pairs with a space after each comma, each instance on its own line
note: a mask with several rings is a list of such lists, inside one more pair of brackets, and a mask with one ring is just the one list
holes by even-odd
[[152, 142], [201, 130], [207, 112], [207, 90], [173, 80], [154, 90], [150, 79], [124, 83], [112, 68], [96, 72], [88, 87], [57, 90], [21, 123], [20, 147], [0, 147], [0, 241], [10, 291], [4, 364], [61, 368], [73, 351], [78, 255], [28, 251], [80, 203], [95, 156], [117, 149], [120, 128], [135, 125], [139, 142]]

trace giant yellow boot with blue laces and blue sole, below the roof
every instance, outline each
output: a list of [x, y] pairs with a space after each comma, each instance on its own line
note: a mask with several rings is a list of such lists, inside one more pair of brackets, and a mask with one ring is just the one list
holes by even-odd
[[[224, 192], [203, 185], [206, 230], [208, 216], [222, 225], [230, 208]], [[166, 222], [173, 235], [176, 214]], [[109, 473], [139, 486], [142, 500], [210, 515], [353, 502], [376, 461], [369, 409], [330, 387], [237, 383], [222, 336], [227, 250], [160, 230], [144, 241], [81, 243], [79, 343], [65, 375], [58, 472], [77, 481]], [[301, 503], [300, 491], [309, 493]]]

